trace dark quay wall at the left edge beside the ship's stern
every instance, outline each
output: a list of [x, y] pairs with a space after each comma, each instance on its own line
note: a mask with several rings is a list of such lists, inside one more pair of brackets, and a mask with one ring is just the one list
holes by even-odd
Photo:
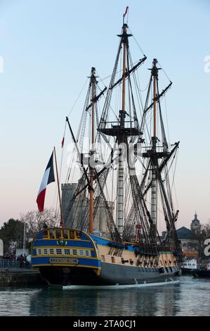
[[0, 260], [0, 286], [46, 285], [39, 271], [20, 268], [18, 261]]

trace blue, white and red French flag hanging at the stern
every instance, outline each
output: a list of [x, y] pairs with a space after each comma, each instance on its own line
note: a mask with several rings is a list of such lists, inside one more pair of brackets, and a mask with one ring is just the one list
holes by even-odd
[[53, 153], [51, 155], [50, 160], [48, 161], [48, 165], [46, 166], [46, 170], [44, 172], [44, 176], [41, 181], [41, 185], [39, 187], [39, 193], [37, 196], [37, 205], [39, 211], [44, 211], [44, 199], [46, 194], [46, 186], [51, 182], [55, 182], [54, 170], [53, 170]]

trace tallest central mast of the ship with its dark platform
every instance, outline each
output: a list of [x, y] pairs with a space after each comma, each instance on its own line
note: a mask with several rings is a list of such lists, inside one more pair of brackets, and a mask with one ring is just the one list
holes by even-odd
[[[128, 11], [128, 7], [126, 8], [126, 13]], [[124, 13], [124, 17], [126, 15]], [[124, 204], [126, 201], [124, 200], [124, 156], [126, 155], [126, 150], [128, 147], [128, 137], [138, 137], [140, 135], [140, 130], [138, 127], [137, 117], [136, 117], [136, 109], [133, 101], [133, 92], [131, 88], [131, 73], [134, 73], [135, 70], [145, 61], [146, 56], [143, 59], [138, 61], [138, 63], [132, 66], [131, 63], [131, 54], [129, 52], [129, 37], [132, 35], [127, 33], [128, 25], [124, 23], [122, 25], [122, 34], [117, 35], [120, 37], [119, 49], [117, 52], [117, 58], [114, 64], [114, 70], [112, 73], [112, 78], [110, 81], [109, 92], [107, 93], [107, 98], [105, 100], [105, 106], [103, 108], [103, 114], [101, 116], [100, 125], [98, 131], [103, 135], [108, 135], [112, 137], [116, 137], [115, 142], [118, 144], [119, 156], [118, 156], [118, 175], [117, 175], [117, 231], [119, 232], [120, 237], [123, 237], [124, 231]], [[117, 66], [119, 64], [119, 58], [122, 51], [122, 77], [119, 80], [115, 81], [115, 76], [117, 73]], [[131, 65], [131, 66], [130, 66]], [[115, 81], [115, 82], [114, 82]], [[133, 114], [131, 112], [128, 114], [126, 112], [126, 81], [128, 82], [128, 92], [129, 97], [132, 99], [133, 106]], [[117, 117], [117, 125], [116, 122], [107, 121], [109, 108], [110, 108], [110, 100], [112, 96], [112, 91], [115, 87], [122, 84], [122, 104], [121, 109], [119, 110], [119, 117]], [[129, 99], [128, 97], [128, 99]], [[132, 111], [129, 104], [129, 111]], [[130, 116], [129, 120], [126, 120], [126, 116]], [[134, 118], [134, 120], [131, 120]], [[134, 123], [134, 127], [132, 125]], [[111, 125], [111, 126], [110, 126]]]

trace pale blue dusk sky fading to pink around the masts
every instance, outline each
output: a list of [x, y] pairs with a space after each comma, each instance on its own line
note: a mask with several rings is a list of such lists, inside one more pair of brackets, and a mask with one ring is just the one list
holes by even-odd
[[[201, 223], [210, 219], [210, 1], [0, 0], [0, 226], [37, 210], [48, 159], [53, 146], [60, 158], [65, 116], [91, 67], [112, 73], [126, 6], [147, 56], [143, 72], [157, 58], [173, 82], [166, 107], [171, 142], [180, 141], [177, 227], [190, 227], [195, 211]], [[83, 103], [70, 113], [75, 132]]]

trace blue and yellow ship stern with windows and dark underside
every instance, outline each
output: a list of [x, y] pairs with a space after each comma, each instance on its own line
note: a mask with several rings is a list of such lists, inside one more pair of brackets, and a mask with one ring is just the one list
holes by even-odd
[[74, 229], [51, 228], [32, 243], [32, 266], [50, 285], [97, 283], [101, 263], [93, 239]]

